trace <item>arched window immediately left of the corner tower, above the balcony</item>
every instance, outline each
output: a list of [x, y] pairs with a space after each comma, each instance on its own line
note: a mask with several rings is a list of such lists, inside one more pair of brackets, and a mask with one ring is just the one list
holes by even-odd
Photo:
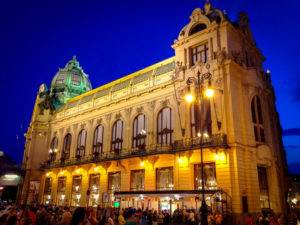
[[171, 144], [173, 141], [174, 115], [171, 108], [164, 108], [157, 119], [157, 143]]

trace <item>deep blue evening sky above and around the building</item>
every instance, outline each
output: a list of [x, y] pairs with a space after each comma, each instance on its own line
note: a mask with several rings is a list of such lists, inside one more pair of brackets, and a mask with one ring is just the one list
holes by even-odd
[[[174, 55], [173, 40], [205, 0], [1, 0], [0, 149], [20, 162], [40, 84], [77, 56], [93, 88]], [[290, 169], [300, 173], [298, 0], [212, 0], [235, 21], [246, 11], [266, 57]], [[21, 126], [22, 124], [22, 126]], [[23, 127], [23, 130], [22, 130]], [[16, 137], [18, 135], [19, 138]]]

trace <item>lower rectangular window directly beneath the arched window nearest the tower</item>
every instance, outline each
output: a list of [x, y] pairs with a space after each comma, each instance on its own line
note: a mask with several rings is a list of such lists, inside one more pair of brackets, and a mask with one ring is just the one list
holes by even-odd
[[173, 187], [173, 167], [156, 168], [156, 190], [172, 190]]

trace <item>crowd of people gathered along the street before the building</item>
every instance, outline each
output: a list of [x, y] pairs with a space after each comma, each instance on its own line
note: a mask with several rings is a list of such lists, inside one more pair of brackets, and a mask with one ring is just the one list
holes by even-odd
[[[209, 213], [207, 220], [209, 225], [230, 224], [219, 212]], [[11, 206], [6, 214], [0, 214], [0, 225], [201, 225], [200, 221], [200, 214], [193, 209], [176, 209], [171, 216], [167, 210], [78, 207], [73, 211], [69, 207], [21, 205]], [[245, 224], [297, 225], [297, 217], [294, 214], [289, 214], [288, 218], [261, 214], [254, 220], [249, 214]]]

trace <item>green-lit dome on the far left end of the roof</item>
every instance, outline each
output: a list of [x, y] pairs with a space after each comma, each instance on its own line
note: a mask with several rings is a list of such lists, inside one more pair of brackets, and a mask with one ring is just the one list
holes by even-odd
[[50, 96], [55, 97], [54, 106], [57, 108], [69, 99], [91, 89], [88, 75], [79, 66], [76, 56], [73, 56], [65, 68], [59, 69], [55, 74], [50, 86]]

